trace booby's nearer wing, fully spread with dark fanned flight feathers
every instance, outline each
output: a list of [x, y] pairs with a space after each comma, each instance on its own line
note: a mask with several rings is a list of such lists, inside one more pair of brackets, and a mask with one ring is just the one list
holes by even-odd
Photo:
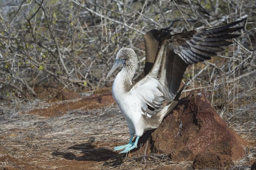
[[[192, 63], [209, 60], [211, 56], [216, 56], [217, 52], [224, 50], [221, 46], [232, 44], [227, 40], [239, 35], [230, 33], [240, 30], [244, 26], [230, 27], [244, 20], [209, 29], [178, 33], [163, 38], [159, 43], [152, 69], [145, 78], [134, 84], [133, 91], [142, 97], [149, 96], [145, 94], [145, 90], [142, 90], [143, 84], [146, 81], [153, 82], [156, 79], [158, 84], [154, 90], [157, 95], [150, 95], [154, 96], [151, 98], [143, 97], [146, 103], [153, 108], [159, 108], [163, 100], [172, 101], [177, 94], [186, 67]], [[159, 96], [160, 93], [163, 95]]]

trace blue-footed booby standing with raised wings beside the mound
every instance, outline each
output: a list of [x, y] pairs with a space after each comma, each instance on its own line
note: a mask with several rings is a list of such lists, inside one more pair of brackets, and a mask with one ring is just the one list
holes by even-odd
[[[230, 34], [244, 26], [237, 26], [239, 20], [222, 26], [193, 30], [171, 35], [170, 28], [153, 29], [144, 35], [145, 68], [135, 81], [137, 55], [131, 48], [122, 48], [117, 52], [116, 60], [107, 78], [122, 65], [122, 70], [113, 82], [113, 98], [124, 115], [130, 130], [131, 138], [126, 145], [114, 147], [121, 153], [137, 147], [140, 136], [145, 130], [157, 128], [163, 118], [177, 104], [179, 87], [183, 74], [189, 64], [209, 60], [222, 46], [232, 44], [227, 41], [239, 35]], [[233, 27], [233, 28], [232, 28]], [[146, 109], [158, 109], [164, 101], [169, 103], [155, 115], [146, 113]], [[136, 135], [135, 142], [132, 139]]]

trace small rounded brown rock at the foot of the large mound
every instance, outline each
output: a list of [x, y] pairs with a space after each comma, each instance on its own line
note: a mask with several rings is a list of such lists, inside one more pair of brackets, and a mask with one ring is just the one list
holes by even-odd
[[195, 161], [192, 164], [193, 169], [230, 169], [234, 166], [233, 161], [227, 155], [219, 153], [202, 153], [195, 156]]

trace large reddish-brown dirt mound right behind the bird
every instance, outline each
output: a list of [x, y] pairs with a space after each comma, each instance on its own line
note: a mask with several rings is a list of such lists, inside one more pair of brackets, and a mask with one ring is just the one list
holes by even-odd
[[194, 161], [198, 154], [212, 155], [209, 160], [215, 160], [216, 156], [228, 161], [227, 157], [238, 159], [245, 154], [242, 145], [248, 144], [227, 127], [200, 91], [182, 98], [160, 126], [147, 131], [139, 142], [147, 140], [151, 152], [169, 154], [175, 161]]

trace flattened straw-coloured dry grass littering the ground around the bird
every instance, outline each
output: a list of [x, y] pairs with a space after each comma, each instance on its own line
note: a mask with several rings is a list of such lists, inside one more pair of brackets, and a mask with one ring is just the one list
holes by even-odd
[[[125, 120], [114, 105], [87, 112], [83, 108], [70, 110], [67, 114], [48, 118], [13, 112], [12, 118], [5, 116], [1, 124], [0, 141], [8, 154], [0, 158], [11, 156], [33, 164], [32, 167], [58, 169], [55, 168], [58, 167], [58, 161], [76, 160], [83, 164], [90, 162], [95, 169], [105, 170], [151, 170], [164, 165], [192, 169], [191, 161], [175, 162], [166, 154], [144, 155], [144, 151], [140, 150], [140, 156], [125, 157], [113, 152], [114, 146], [126, 143], [129, 138]], [[255, 133], [244, 132], [250, 132], [254, 127], [255, 124], [242, 121], [233, 130], [240, 129], [237, 133], [251, 141], [255, 139]], [[255, 146], [244, 149], [247, 155], [236, 161], [233, 169], [247, 170], [250, 166], [246, 163], [256, 158]], [[20, 168], [22, 165], [5, 159], [0, 162], [0, 167], [5, 167], [7, 163]]]

